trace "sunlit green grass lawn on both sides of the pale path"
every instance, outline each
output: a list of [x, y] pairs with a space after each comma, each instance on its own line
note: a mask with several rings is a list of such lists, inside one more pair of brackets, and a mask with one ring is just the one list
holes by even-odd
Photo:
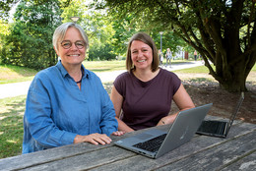
[[[180, 62], [182, 61], [177, 60], [172, 64]], [[84, 65], [94, 72], [125, 70], [125, 61], [85, 61]], [[256, 66], [252, 72], [256, 73]], [[29, 81], [36, 73], [35, 70], [23, 67], [0, 65], [0, 84]], [[201, 66], [175, 71], [175, 73], [181, 75], [187, 73], [208, 74], [209, 72], [206, 67]], [[109, 87], [112, 84], [103, 85], [109, 92]], [[22, 152], [25, 104], [26, 95], [0, 99], [0, 158], [19, 155]]]

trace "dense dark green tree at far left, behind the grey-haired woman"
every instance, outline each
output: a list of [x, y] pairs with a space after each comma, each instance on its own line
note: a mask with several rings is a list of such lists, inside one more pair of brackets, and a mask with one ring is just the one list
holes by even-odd
[[22, 0], [14, 15], [15, 23], [4, 38], [1, 60], [4, 64], [42, 69], [56, 63], [52, 34], [60, 24], [57, 0]]

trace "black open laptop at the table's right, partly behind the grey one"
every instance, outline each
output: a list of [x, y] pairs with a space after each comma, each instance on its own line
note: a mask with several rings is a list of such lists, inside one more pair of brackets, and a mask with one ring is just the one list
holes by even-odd
[[229, 121], [205, 120], [202, 122], [201, 126], [199, 127], [197, 134], [212, 136], [212, 137], [219, 137], [219, 138], [226, 138], [228, 131], [232, 126], [233, 120], [240, 109], [243, 99], [244, 99], [244, 92], [241, 92], [241, 95], [237, 101], [236, 106], [233, 109], [233, 112], [229, 118]]

